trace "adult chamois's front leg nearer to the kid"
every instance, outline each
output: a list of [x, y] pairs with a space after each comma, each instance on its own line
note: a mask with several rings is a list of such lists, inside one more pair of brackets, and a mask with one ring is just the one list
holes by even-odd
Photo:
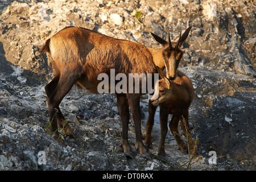
[[133, 121], [135, 124], [136, 143], [135, 149], [139, 151], [143, 158], [152, 159], [150, 152], [142, 142], [141, 132], [141, 108], [139, 106], [140, 94], [127, 94], [128, 102], [133, 113]]

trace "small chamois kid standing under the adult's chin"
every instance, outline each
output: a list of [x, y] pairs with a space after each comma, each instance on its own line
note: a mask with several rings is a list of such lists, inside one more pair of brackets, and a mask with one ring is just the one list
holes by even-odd
[[[187, 151], [188, 147], [183, 142], [178, 131], [179, 121], [182, 123], [183, 132], [186, 137], [191, 137], [191, 129], [188, 123], [188, 109], [193, 101], [193, 85], [189, 78], [181, 71], [177, 71], [176, 79], [171, 81], [164, 74], [162, 69], [158, 68], [159, 76], [159, 96], [155, 100], [151, 100], [148, 105], [148, 120], [146, 125], [145, 144], [148, 148], [152, 147], [151, 132], [154, 125], [154, 116], [156, 107], [160, 107], [160, 144], [158, 147], [158, 155], [165, 157], [164, 142], [168, 131], [168, 115], [172, 114], [170, 121], [170, 130], [181, 151]], [[156, 89], [156, 88], [155, 88]], [[153, 96], [154, 97], [154, 96]], [[188, 139], [187, 139], [188, 140]], [[189, 143], [191, 145], [191, 143]], [[195, 152], [197, 154], [197, 152]]]

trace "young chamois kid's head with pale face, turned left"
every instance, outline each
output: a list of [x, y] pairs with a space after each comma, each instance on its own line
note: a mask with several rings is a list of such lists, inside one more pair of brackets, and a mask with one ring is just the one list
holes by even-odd
[[[151, 103], [153, 105], [159, 105], [162, 102], [170, 99], [172, 91], [172, 81], [170, 81], [169, 78], [167, 78], [167, 75], [163, 72], [162, 69], [159, 67], [156, 67], [158, 69], [159, 77], [162, 78], [161, 80], [158, 80], [158, 88], [155, 88], [155, 93], [151, 98]], [[155, 97], [155, 94], [158, 92], [158, 98]], [[156, 98], [156, 99], [154, 99]]]

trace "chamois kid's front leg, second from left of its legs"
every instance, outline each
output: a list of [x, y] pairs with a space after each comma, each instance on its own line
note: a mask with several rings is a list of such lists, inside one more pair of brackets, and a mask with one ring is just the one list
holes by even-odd
[[161, 139], [158, 147], [158, 155], [161, 158], [164, 158], [166, 156], [166, 152], [164, 150], [164, 142], [166, 142], [166, 135], [168, 131], [168, 108], [166, 107], [161, 107], [160, 106], [160, 128], [161, 128]]

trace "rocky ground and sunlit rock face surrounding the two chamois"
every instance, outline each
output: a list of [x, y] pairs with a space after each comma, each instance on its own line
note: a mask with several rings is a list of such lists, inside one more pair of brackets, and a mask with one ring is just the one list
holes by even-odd
[[[114, 38], [160, 47], [150, 32], [177, 40], [192, 26], [180, 63], [195, 88], [189, 110], [192, 137], [201, 157], [192, 170], [256, 169], [256, 17], [250, 0], [172, 1], [0, 1], [0, 170], [177, 170], [189, 157], [169, 132], [166, 161], [127, 159], [118, 142], [121, 121], [113, 94], [74, 87], [61, 110], [76, 139], [59, 146], [47, 134], [44, 86], [52, 78], [44, 42], [66, 26], [81, 26]], [[142, 13], [137, 20], [134, 13]], [[137, 15], [138, 15], [137, 14]], [[138, 16], [137, 16], [138, 18]], [[147, 97], [141, 100], [142, 131]], [[171, 116], [170, 116], [171, 117]], [[159, 118], [152, 134], [156, 154]], [[129, 141], [135, 144], [134, 123]], [[39, 151], [46, 164], [38, 163]], [[217, 164], [209, 164], [215, 151]]]

